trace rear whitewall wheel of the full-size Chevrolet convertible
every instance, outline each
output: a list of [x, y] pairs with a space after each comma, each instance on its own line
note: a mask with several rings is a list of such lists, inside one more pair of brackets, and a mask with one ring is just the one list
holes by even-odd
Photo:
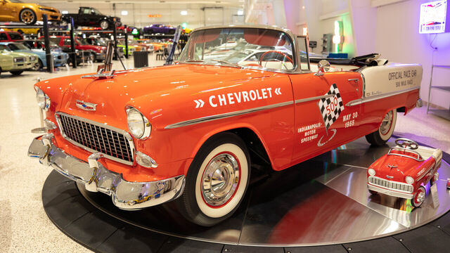
[[397, 109], [386, 113], [377, 131], [366, 135], [366, 140], [372, 145], [385, 145], [394, 132], [395, 122], [397, 122]]

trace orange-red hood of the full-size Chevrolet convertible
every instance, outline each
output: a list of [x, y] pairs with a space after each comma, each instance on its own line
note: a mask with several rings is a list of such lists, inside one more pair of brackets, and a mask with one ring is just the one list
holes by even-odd
[[[118, 73], [113, 79], [81, 79], [78, 76], [70, 82], [57, 110], [69, 114], [77, 111], [77, 115], [97, 122], [107, 122], [105, 119], [108, 118], [108, 124], [127, 129], [125, 106], [131, 105], [151, 119], [152, 124], [158, 124], [158, 121], [164, 124], [163, 117], [153, 120], [155, 112], [186, 109], [200, 93], [207, 96], [219, 89], [244, 85], [243, 80], [267, 77], [268, 73], [237, 67], [184, 64], [129, 70]], [[77, 108], [76, 100], [96, 104], [96, 112]], [[113, 120], [117, 122], [111, 122]]]

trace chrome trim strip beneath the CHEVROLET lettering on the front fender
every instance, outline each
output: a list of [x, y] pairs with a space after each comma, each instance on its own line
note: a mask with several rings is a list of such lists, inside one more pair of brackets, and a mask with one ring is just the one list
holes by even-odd
[[274, 108], [279, 108], [279, 107], [283, 107], [286, 105], [293, 105], [294, 101], [287, 101], [287, 102], [283, 102], [283, 103], [276, 103], [274, 105], [265, 105], [265, 106], [261, 106], [259, 108], [252, 108], [252, 109], [247, 109], [247, 110], [240, 110], [240, 111], [236, 111], [236, 112], [226, 112], [226, 113], [222, 113], [219, 115], [211, 115], [211, 116], [206, 116], [206, 117], [200, 117], [198, 119], [189, 119], [186, 120], [184, 122], [177, 122], [174, 124], [169, 124], [165, 127], [165, 129], [175, 129], [175, 128], [179, 128], [182, 126], [190, 126], [193, 124], [199, 124], [199, 123], [203, 123], [203, 122], [210, 122], [212, 120], [217, 120], [217, 119], [225, 119], [227, 117], [235, 117], [235, 116], [240, 116], [240, 115], [245, 115], [248, 113], [252, 113], [252, 112], [259, 112], [262, 110], [269, 110], [269, 109], [274, 109]]

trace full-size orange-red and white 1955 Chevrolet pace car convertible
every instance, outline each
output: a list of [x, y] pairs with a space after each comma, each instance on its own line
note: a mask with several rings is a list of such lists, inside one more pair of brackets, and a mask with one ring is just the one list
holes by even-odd
[[174, 200], [212, 226], [238, 208], [253, 162], [279, 171], [390, 138], [397, 111], [421, 105], [422, 67], [378, 57], [312, 66], [289, 30], [203, 27], [175, 65], [37, 83], [46, 134], [28, 155], [120, 209]]

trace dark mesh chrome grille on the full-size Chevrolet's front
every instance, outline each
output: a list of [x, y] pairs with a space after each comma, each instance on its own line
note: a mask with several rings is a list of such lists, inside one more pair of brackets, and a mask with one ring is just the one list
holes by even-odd
[[71, 143], [92, 153], [103, 153], [111, 160], [133, 164], [134, 144], [122, 129], [63, 113], [58, 113], [57, 119], [61, 134]]

